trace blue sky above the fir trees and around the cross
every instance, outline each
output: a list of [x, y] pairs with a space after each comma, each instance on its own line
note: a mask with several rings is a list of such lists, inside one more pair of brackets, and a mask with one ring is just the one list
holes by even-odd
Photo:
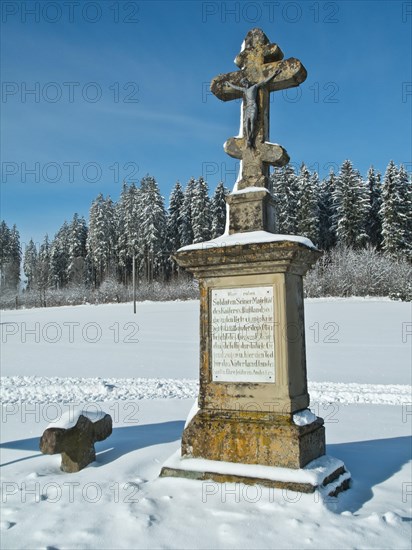
[[[3, 0], [1, 217], [25, 243], [51, 237], [99, 192], [150, 173], [232, 187], [239, 102], [208, 92], [249, 29], [308, 71], [272, 94], [271, 141], [324, 176], [349, 158], [365, 174], [412, 169], [412, 3], [16, 2]], [[29, 93], [34, 90], [34, 93]]]

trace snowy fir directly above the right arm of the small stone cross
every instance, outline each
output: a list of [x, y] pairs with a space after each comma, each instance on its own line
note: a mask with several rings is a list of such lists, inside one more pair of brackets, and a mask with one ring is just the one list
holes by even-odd
[[114, 270], [116, 221], [113, 201], [100, 193], [90, 208], [87, 235], [87, 258], [92, 270], [92, 282], [99, 286]]

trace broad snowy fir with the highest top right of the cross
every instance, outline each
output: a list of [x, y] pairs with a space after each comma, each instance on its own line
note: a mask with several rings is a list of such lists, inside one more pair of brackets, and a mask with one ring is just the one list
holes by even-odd
[[334, 228], [338, 244], [352, 248], [364, 246], [368, 240], [366, 234], [366, 216], [369, 201], [362, 178], [345, 160], [336, 180], [333, 192], [336, 213]]

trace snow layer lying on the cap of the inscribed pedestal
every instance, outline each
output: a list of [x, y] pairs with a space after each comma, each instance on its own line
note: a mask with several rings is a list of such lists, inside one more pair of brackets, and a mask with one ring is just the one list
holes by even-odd
[[221, 237], [204, 243], [189, 244], [187, 246], [183, 246], [178, 252], [188, 250], [206, 250], [212, 247], [273, 242], [294, 242], [307, 246], [308, 248], [316, 249], [312, 241], [310, 241], [306, 237], [299, 237], [298, 235], [277, 235], [275, 233], [269, 233], [268, 231], [248, 231], [245, 233], [222, 235]]

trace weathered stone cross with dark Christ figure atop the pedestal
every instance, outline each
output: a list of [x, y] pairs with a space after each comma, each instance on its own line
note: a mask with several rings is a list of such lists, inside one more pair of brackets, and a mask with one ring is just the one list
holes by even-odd
[[268, 187], [269, 166], [284, 166], [289, 156], [280, 145], [269, 142], [270, 92], [299, 86], [307, 76], [300, 61], [283, 60], [277, 44], [271, 44], [261, 29], [248, 32], [235, 59], [240, 71], [220, 74], [210, 89], [221, 100], [243, 97], [243, 137], [226, 141], [225, 152], [242, 159], [238, 189]]

